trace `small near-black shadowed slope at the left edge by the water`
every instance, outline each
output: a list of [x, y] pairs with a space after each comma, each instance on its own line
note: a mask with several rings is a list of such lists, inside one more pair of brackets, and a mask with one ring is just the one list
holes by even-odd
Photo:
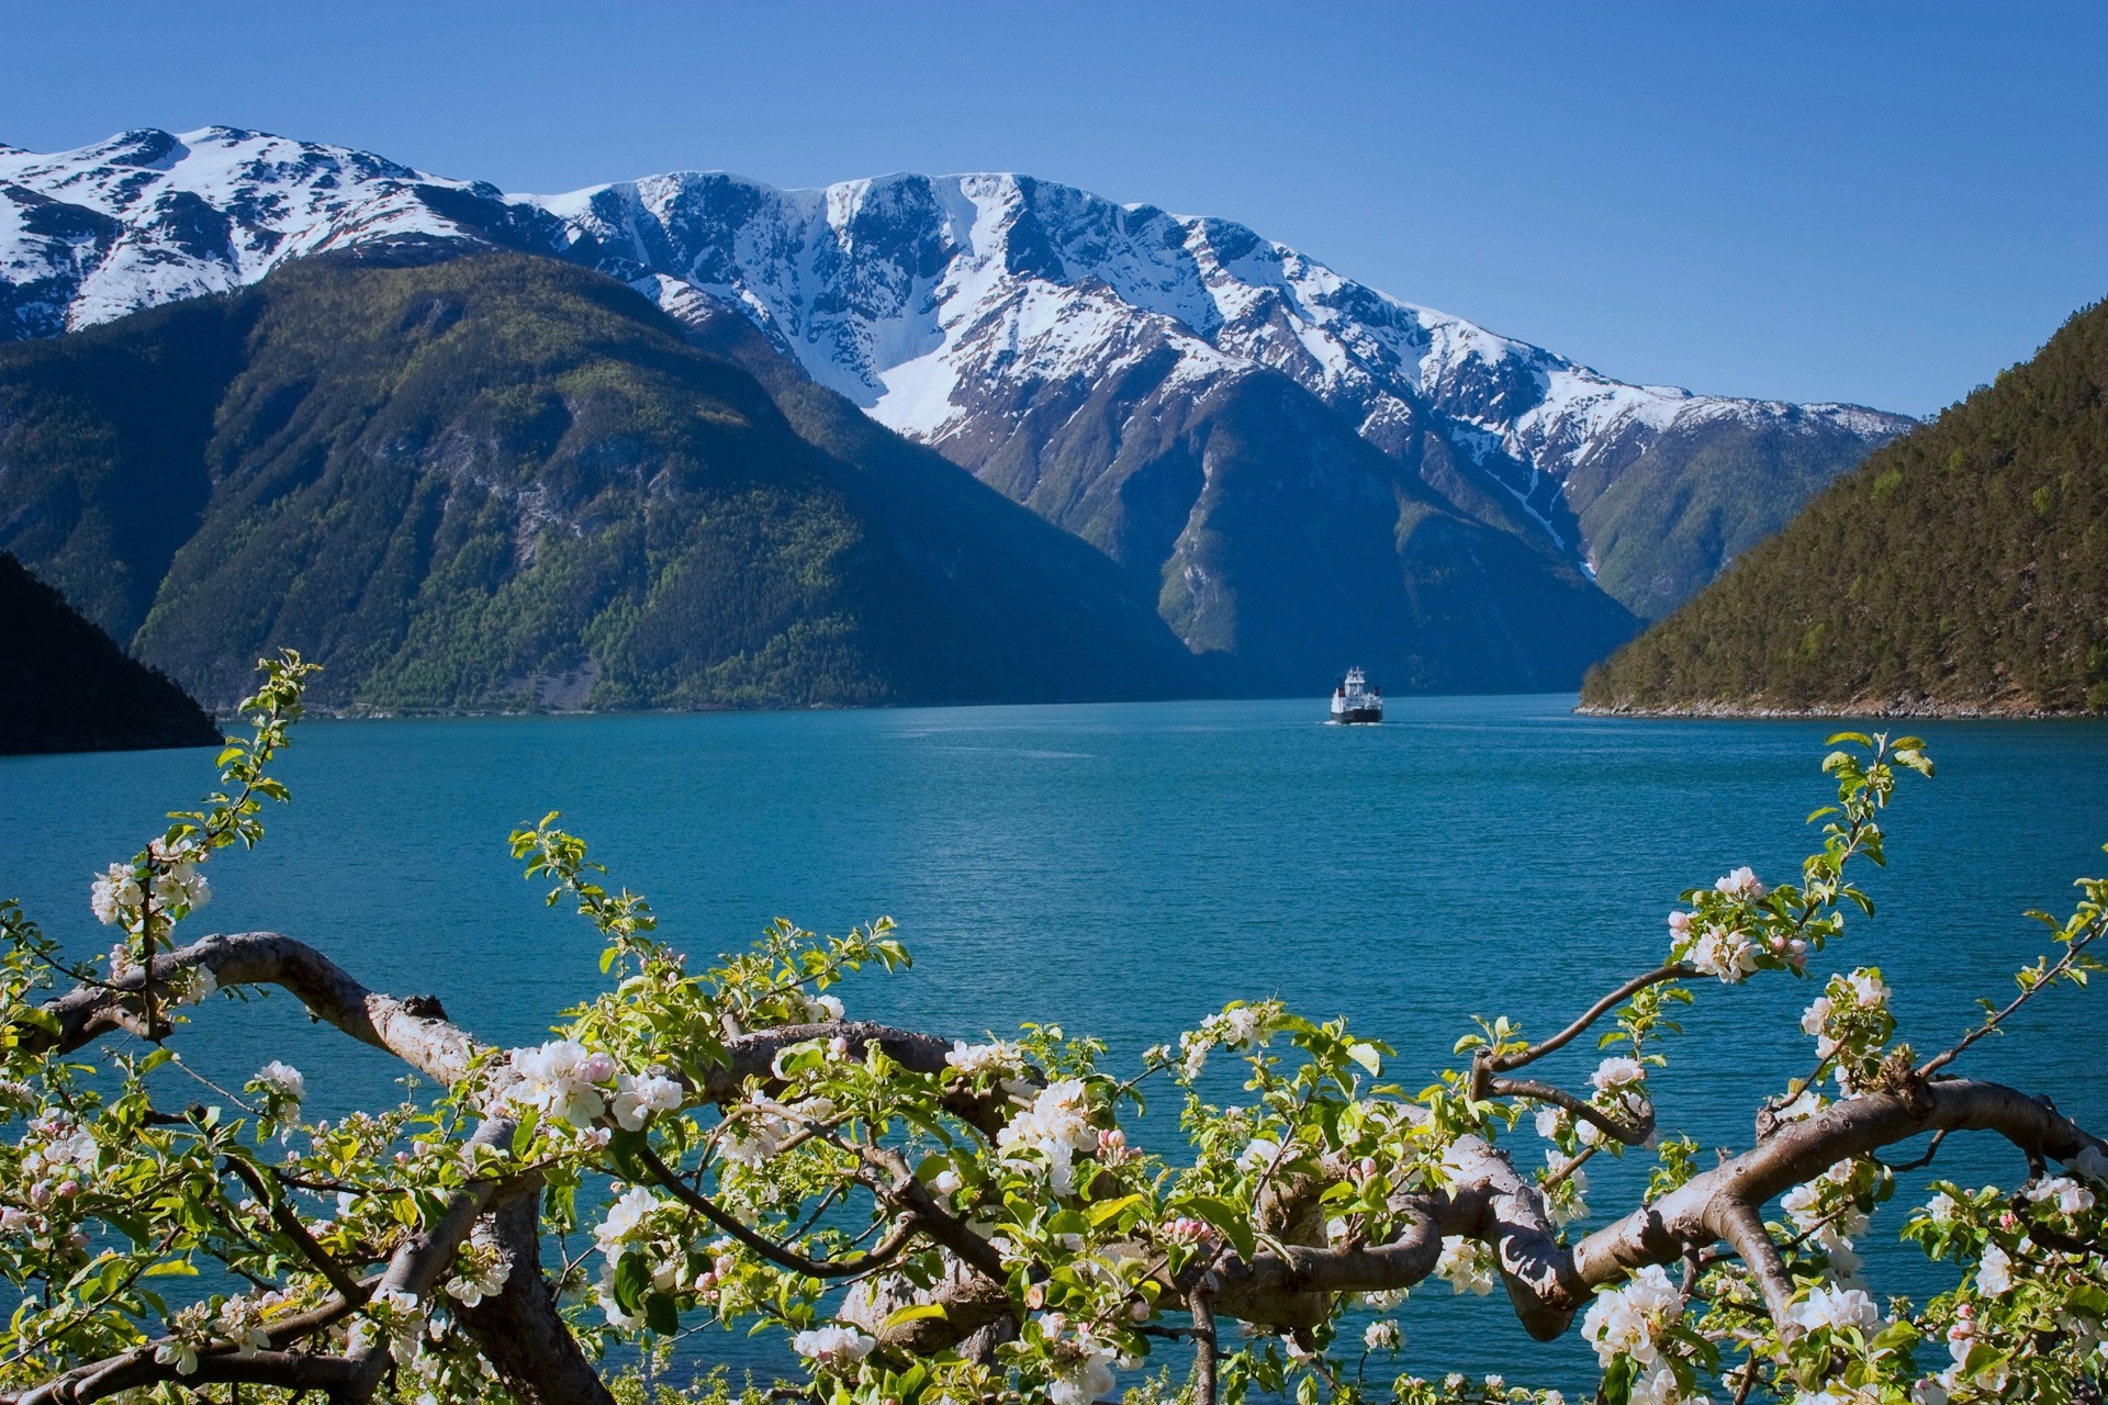
[[219, 746], [213, 718], [0, 552], [0, 754]]

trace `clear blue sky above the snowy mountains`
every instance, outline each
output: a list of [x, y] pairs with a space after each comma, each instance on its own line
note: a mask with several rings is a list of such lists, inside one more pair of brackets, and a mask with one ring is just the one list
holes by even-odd
[[2108, 4], [53, 4], [0, 141], [226, 122], [506, 190], [1024, 171], [1623, 379], [1927, 413], [2108, 293]]

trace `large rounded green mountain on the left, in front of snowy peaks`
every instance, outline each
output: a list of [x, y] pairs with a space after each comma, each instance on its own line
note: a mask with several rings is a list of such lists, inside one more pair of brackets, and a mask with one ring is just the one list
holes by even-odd
[[[533, 257], [304, 261], [0, 350], [0, 548], [211, 704], [280, 645], [365, 710], [1199, 687], [1096, 552], [858, 453]], [[921, 510], [875, 510], [902, 478]]]

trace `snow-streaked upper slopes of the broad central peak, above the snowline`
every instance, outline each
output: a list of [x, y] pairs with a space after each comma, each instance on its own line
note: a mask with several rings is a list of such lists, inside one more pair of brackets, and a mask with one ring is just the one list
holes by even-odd
[[[1436, 432], [1562, 539], [1541, 493], [1592, 459], [1710, 421], [1889, 436], [1910, 421], [1627, 385], [1368, 289], [1227, 219], [1168, 215], [1016, 175], [894, 175], [774, 190], [681, 173], [531, 202], [580, 253], [740, 305], [881, 423], [972, 438], [993, 385], [1117, 373], [1157, 348], [1170, 379], [1271, 369], [1391, 453]], [[679, 310], [677, 303], [668, 303]], [[1556, 501], [1556, 499], [1554, 499]]]

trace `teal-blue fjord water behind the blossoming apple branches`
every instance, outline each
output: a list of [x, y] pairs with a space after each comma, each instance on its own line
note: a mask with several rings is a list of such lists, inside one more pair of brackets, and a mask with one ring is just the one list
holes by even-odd
[[[1817, 765], [1834, 725], [1570, 706], [1391, 699], [1383, 727], [1326, 727], [1322, 699], [312, 720], [280, 767], [293, 805], [266, 815], [261, 849], [213, 864], [194, 927], [287, 931], [369, 986], [438, 994], [485, 1038], [535, 1041], [601, 986], [592, 931], [546, 910], [506, 855], [514, 824], [561, 809], [698, 956], [776, 914], [824, 931], [898, 918], [915, 967], [854, 979], [843, 994], [860, 1015], [968, 1036], [1060, 1022], [1132, 1064], [1225, 1001], [1282, 996], [1395, 1045], [1387, 1074], [1419, 1089], [1469, 1015], [1543, 1034], [1655, 965], [1682, 889], [1739, 864], [1792, 876], [1813, 843], [1802, 817], [1832, 796]], [[1819, 969], [1878, 965], [1901, 1036], [1929, 1051], [2043, 948], [2022, 912], [2068, 908], [2070, 878], [2108, 868], [2108, 727], [1912, 731], [1939, 777], [1904, 779], [1891, 864], [1861, 870], [1878, 914], [1855, 918]], [[0, 891], [53, 933], [99, 942], [91, 868], [133, 853], [209, 767], [200, 750], [0, 760]], [[1657, 1079], [1663, 1127], [1748, 1146], [1758, 1100], [1813, 1064], [1798, 1030], [1813, 994], [1779, 977], [1699, 988]], [[2104, 998], [2038, 1001], [1963, 1072], [2108, 1125]], [[215, 1003], [179, 1047], [236, 1083], [287, 1057], [316, 1114], [394, 1093], [386, 1057], [282, 996]], [[1547, 1072], [1583, 1087], [1594, 1057], [1568, 1049]], [[1221, 1102], [1242, 1097], [1233, 1068], [1221, 1055], [1210, 1068]], [[1541, 1159], [1528, 1127], [1511, 1144]], [[1636, 1167], [1589, 1171], [1598, 1211], [1632, 1205]], [[2024, 1175], [1982, 1140], [1941, 1150], [1935, 1171]], [[1895, 1247], [1901, 1218], [1891, 1207], [1866, 1236], [1876, 1293], [1937, 1287]], [[1592, 1367], [1579, 1333], [1537, 1346], [1501, 1304], [1442, 1285], [1400, 1319], [1412, 1371], [1575, 1384]], [[698, 1361], [774, 1361], [746, 1338], [687, 1346]]]

